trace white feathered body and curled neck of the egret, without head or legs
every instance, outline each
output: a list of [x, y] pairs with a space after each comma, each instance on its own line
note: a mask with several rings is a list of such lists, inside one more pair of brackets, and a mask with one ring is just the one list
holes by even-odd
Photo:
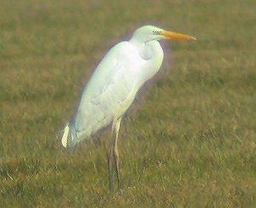
[[[146, 43], [147, 54], [140, 54], [136, 43], [122, 41], [98, 64], [81, 96], [75, 115], [68, 124], [68, 147], [91, 138], [99, 129], [120, 118], [131, 106], [136, 92], [157, 74], [164, 53], [159, 41]], [[64, 140], [63, 140], [64, 142]], [[65, 143], [63, 144], [65, 145]]]

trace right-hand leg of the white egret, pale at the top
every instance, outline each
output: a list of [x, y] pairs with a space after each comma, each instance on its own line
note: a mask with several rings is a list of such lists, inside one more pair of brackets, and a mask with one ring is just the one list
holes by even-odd
[[113, 158], [114, 158], [114, 167], [117, 175], [117, 185], [118, 189], [120, 189], [120, 156], [118, 151], [118, 139], [119, 139], [119, 131], [120, 131], [120, 123], [121, 118], [119, 118], [116, 123], [114, 123], [114, 144], [113, 144]]

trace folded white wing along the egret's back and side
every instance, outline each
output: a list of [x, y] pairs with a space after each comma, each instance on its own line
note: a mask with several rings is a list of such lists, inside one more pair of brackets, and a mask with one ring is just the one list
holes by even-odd
[[81, 140], [109, 125], [130, 107], [136, 96], [136, 72], [142, 62], [135, 48], [123, 41], [99, 63], [74, 117], [76, 134]]

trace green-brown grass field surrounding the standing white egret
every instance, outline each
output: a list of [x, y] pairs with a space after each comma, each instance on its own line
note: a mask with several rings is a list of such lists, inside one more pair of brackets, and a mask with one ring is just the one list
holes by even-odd
[[[142, 25], [162, 73], [125, 118], [122, 189], [110, 131], [65, 151], [60, 131], [109, 47]], [[256, 26], [248, 1], [1, 1], [1, 207], [256, 207]]]

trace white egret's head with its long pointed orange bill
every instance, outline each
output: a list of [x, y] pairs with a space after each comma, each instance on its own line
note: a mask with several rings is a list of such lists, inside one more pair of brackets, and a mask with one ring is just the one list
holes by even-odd
[[133, 36], [132, 41], [147, 42], [147, 41], [159, 41], [162, 39], [186, 39], [186, 40], [196, 40], [193, 36], [188, 36], [181, 33], [176, 33], [168, 30], [163, 30], [161, 28], [146, 25], [137, 29]]

